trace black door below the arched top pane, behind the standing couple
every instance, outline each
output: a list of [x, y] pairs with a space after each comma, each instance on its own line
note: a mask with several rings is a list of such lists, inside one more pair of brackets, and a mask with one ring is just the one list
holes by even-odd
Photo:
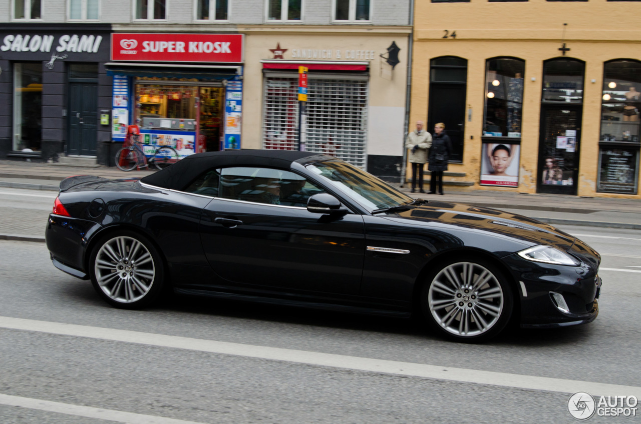
[[453, 162], [463, 161], [465, 90], [462, 84], [432, 84], [429, 89], [428, 131], [433, 134], [435, 124], [445, 124], [445, 133], [452, 142]]

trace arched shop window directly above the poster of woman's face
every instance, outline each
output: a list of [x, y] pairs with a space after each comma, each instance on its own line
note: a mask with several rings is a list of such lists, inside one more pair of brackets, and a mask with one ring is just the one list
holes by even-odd
[[483, 136], [520, 138], [525, 61], [490, 59], [485, 63]]

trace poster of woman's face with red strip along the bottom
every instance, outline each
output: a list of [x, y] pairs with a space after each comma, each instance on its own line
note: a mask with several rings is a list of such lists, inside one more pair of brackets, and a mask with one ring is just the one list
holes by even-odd
[[520, 145], [483, 143], [481, 153], [481, 184], [488, 186], [519, 186]]

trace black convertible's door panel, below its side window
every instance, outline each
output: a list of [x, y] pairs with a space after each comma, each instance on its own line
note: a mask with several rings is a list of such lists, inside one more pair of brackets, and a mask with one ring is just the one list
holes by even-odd
[[218, 284], [340, 294], [360, 289], [365, 256], [360, 215], [328, 219], [304, 208], [214, 199], [204, 209], [201, 238], [210, 265], [222, 277]]

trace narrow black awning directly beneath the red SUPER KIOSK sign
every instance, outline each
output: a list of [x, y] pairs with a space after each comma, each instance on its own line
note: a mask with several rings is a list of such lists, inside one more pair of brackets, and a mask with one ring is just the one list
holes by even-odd
[[220, 81], [233, 79], [237, 76], [234, 69], [229, 68], [201, 68], [201, 67], [159, 67], [159, 66], [128, 66], [104, 65], [107, 75], [126, 75], [135, 77], [167, 77], [167, 78], [196, 78], [200, 81]]

